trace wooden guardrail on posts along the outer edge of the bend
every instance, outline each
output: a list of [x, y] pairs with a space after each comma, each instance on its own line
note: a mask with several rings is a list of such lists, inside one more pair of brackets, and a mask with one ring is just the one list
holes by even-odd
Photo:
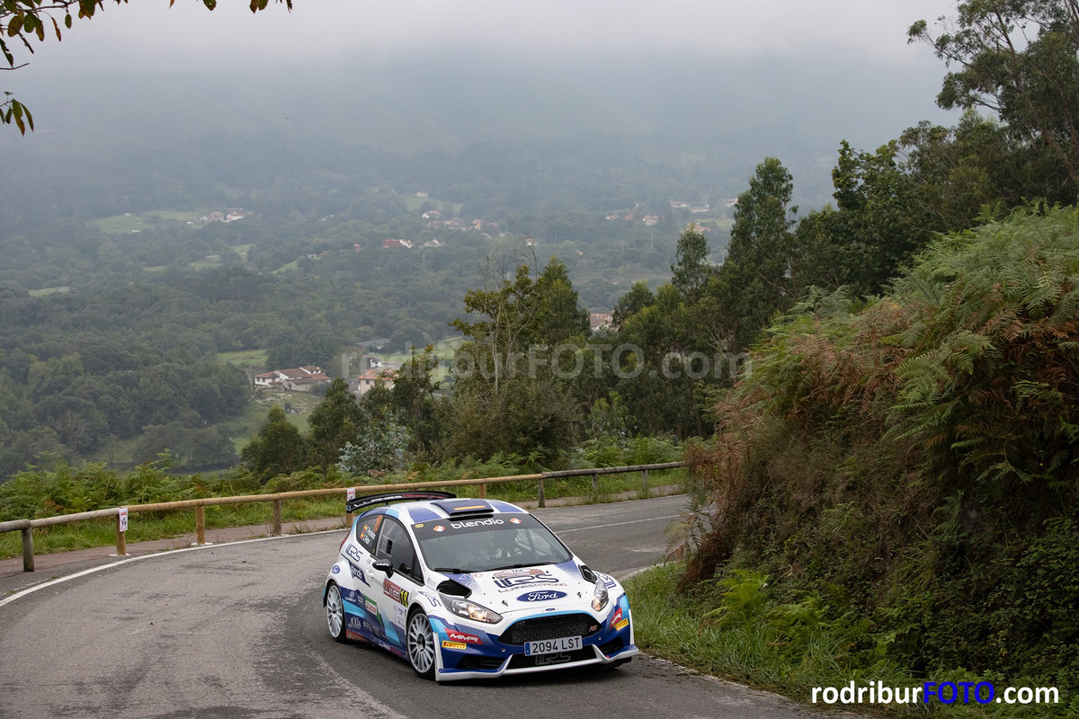
[[[206, 543], [206, 508], [217, 504], [243, 504], [247, 502], [273, 502], [273, 521], [271, 536], [281, 535], [281, 508], [286, 499], [302, 499], [304, 497], [326, 497], [331, 495], [346, 495], [350, 489], [355, 489], [357, 494], [375, 494], [383, 492], [404, 492], [419, 488], [455, 487], [467, 485], [479, 485], [479, 496], [487, 496], [487, 485], [501, 484], [505, 482], [536, 482], [536, 500], [540, 507], [546, 506], [544, 496], [544, 481], [562, 479], [568, 476], [589, 476], [592, 478], [591, 497], [596, 499], [599, 494], [600, 474], [624, 474], [627, 472], [641, 472], [641, 496], [648, 496], [648, 472], [654, 470], [677, 469], [684, 467], [682, 461], [668, 461], [656, 465], [627, 465], [624, 467], [593, 467], [591, 469], [565, 469], [554, 472], [543, 472], [540, 474], [516, 474], [513, 476], [488, 476], [472, 480], [447, 480], [443, 482], [413, 482], [409, 484], [368, 484], [356, 487], [329, 487], [326, 489], [301, 489], [299, 492], [281, 492], [272, 495], [241, 495], [236, 497], [204, 497], [201, 499], [183, 499], [172, 502], [153, 502], [150, 504], [131, 504], [128, 507], [112, 507], [99, 509], [92, 512], [78, 512], [76, 514], [58, 514], [56, 516], [44, 516], [37, 520], [12, 520], [0, 522], [0, 533], [22, 531], [23, 533], [23, 571], [33, 571], [33, 529], [37, 527], [50, 527], [57, 524], [70, 524], [72, 522], [83, 522], [86, 520], [101, 520], [105, 517], [115, 517], [117, 522], [117, 554], [125, 556], [127, 554], [127, 540], [121, 523], [126, 521], [126, 514], [139, 512], [172, 512], [183, 509], [195, 510], [195, 543]], [[126, 510], [126, 512], [124, 511]]]

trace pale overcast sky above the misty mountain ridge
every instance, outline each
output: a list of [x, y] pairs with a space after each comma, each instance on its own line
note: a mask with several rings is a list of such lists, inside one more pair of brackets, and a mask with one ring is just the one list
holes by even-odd
[[948, 0], [295, 0], [251, 15], [245, 0], [133, 0], [46, 39], [31, 68], [208, 69], [398, 57], [454, 47], [566, 53], [688, 50], [723, 57], [823, 55], [912, 68], [941, 64], [907, 45]]

